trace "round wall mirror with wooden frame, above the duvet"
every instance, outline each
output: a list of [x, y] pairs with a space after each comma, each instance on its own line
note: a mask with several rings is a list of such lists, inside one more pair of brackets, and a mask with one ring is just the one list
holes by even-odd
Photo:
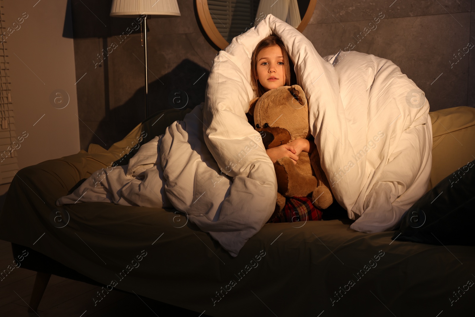
[[267, 14], [302, 32], [317, 0], [196, 0], [203, 29], [216, 46], [226, 48], [237, 35], [256, 26]]

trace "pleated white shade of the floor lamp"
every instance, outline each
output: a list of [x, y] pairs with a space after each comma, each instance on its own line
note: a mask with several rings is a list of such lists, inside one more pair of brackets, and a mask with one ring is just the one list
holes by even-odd
[[180, 17], [177, 0], [114, 0], [111, 17], [135, 18], [140, 15], [147, 18]]

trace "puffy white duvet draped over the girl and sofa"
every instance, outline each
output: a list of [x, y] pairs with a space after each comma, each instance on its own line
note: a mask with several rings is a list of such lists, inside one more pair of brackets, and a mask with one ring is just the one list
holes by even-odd
[[142, 145], [128, 165], [91, 176], [57, 205], [174, 207], [237, 256], [276, 205], [274, 166], [246, 117], [254, 97], [251, 54], [271, 33], [294, 62], [323, 171], [355, 220], [351, 228], [394, 228], [429, 181], [432, 126], [424, 93], [390, 60], [354, 51], [323, 59], [271, 14], [219, 52], [204, 103]]

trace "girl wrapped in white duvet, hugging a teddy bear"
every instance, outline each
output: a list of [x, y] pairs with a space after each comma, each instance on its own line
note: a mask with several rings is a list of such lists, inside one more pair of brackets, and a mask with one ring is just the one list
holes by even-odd
[[[257, 44], [251, 58], [251, 85], [257, 97], [270, 89], [291, 86], [290, 62], [284, 43], [276, 35], [269, 35]], [[254, 126], [252, 116], [247, 115], [247, 118]], [[266, 153], [272, 163], [288, 156], [296, 164], [302, 151], [310, 154], [315, 147], [314, 142], [298, 138], [287, 144], [267, 149]]]

